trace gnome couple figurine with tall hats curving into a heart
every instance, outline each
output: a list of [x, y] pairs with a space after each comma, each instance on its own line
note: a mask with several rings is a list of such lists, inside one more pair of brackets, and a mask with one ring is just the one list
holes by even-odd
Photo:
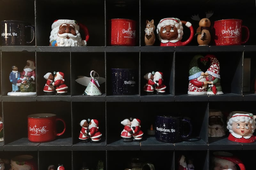
[[[199, 61], [200, 60], [200, 61]], [[198, 62], [204, 65], [210, 60], [209, 68], [204, 72]], [[220, 62], [215, 55], [195, 55], [189, 64], [188, 94], [219, 95], [223, 94], [220, 85]]]

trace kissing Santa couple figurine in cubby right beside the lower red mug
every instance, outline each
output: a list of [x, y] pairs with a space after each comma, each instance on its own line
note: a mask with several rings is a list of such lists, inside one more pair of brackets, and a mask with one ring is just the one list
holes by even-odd
[[96, 119], [83, 119], [80, 121], [80, 142], [99, 143], [101, 140], [101, 132], [99, 131], [99, 121]]

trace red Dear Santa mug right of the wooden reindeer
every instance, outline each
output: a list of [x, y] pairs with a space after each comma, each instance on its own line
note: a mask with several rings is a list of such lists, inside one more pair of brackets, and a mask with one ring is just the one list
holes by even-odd
[[[222, 19], [214, 22], [213, 35], [216, 46], [241, 45], [249, 39], [249, 29], [241, 19]], [[243, 35], [242, 35], [243, 34]]]

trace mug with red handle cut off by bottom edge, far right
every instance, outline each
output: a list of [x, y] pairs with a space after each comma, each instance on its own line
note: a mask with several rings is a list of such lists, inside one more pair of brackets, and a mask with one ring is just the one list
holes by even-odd
[[240, 170], [245, 170], [244, 163], [237, 157], [233, 156], [229, 152], [213, 152], [212, 162], [214, 170], [236, 170], [239, 167]]

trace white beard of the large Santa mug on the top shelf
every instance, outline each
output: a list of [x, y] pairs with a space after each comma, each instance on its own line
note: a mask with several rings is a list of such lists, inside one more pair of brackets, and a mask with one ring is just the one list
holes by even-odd
[[[56, 41], [60, 47], [70, 47], [70, 46], [86, 46], [87, 42], [82, 40], [81, 35], [78, 30], [76, 30], [76, 36], [70, 33], [58, 34], [59, 27], [54, 28], [51, 31], [50, 42]], [[69, 37], [67, 39], [66, 37]]]

